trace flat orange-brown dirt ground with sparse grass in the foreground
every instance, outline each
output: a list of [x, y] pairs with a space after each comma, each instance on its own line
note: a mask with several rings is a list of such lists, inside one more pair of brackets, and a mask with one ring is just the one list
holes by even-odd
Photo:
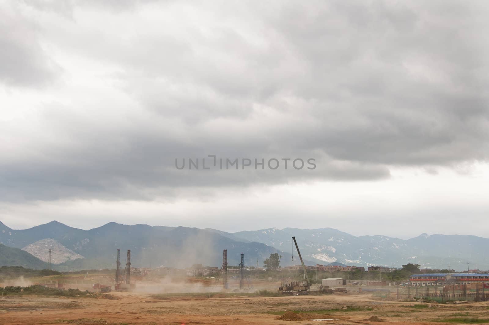
[[[481, 324], [486, 319], [489, 324], [489, 302], [449, 305], [384, 302], [367, 294], [218, 297], [219, 294], [212, 298], [165, 296], [156, 299], [151, 294], [117, 292], [97, 298], [4, 296], [0, 297], [0, 324], [312, 325], [379, 324], [381, 321], [401, 325]], [[279, 320], [286, 311], [295, 312], [301, 320]], [[372, 316], [377, 316], [377, 322]]]

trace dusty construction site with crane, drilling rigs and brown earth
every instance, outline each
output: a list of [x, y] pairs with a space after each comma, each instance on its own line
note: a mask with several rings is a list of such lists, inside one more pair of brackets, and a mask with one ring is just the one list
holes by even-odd
[[[185, 273], [133, 268], [130, 250], [122, 267], [117, 249], [115, 272], [0, 283], [0, 324], [489, 323], [484, 283], [421, 287], [314, 280], [295, 237], [292, 240], [300, 272], [286, 278], [258, 277], [246, 267], [243, 253], [240, 264], [230, 266], [226, 249], [220, 268], [194, 265]], [[269, 275], [266, 270], [262, 273]], [[431, 275], [412, 278], [431, 279]]]

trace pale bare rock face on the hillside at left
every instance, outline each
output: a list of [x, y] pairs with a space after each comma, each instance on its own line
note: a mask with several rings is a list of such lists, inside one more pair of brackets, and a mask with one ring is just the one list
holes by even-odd
[[51, 263], [60, 264], [68, 260], [73, 260], [77, 258], [85, 258], [80, 254], [67, 249], [65, 246], [60, 244], [58, 241], [45, 238], [38, 240], [32, 244], [29, 244], [22, 248], [22, 251], [26, 251], [31, 255], [47, 262], [49, 260], [49, 249], [51, 249]]

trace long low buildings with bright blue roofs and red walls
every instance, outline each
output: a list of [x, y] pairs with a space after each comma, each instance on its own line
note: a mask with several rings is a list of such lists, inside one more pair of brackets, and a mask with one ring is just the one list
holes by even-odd
[[489, 273], [426, 273], [409, 276], [411, 285], [445, 285], [489, 282]]

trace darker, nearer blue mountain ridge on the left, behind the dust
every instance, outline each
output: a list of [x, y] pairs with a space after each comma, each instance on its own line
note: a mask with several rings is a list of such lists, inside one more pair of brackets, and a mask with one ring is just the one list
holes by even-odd
[[[66, 260], [53, 268], [57, 270], [114, 268], [117, 249], [121, 250], [125, 264], [126, 251], [131, 250], [134, 267], [169, 266], [184, 268], [194, 263], [209, 266], [222, 265], [222, 251], [227, 249], [230, 265], [240, 263], [244, 253], [246, 265], [260, 265], [272, 253], [283, 256], [282, 265], [288, 265], [290, 253], [284, 253], [259, 242], [238, 241], [217, 232], [197, 228], [161, 227], [148, 225], [122, 225], [115, 222], [102, 227], [82, 230], [68, 227], [57, 221], [25, 230], [13, 230], [0, 222], [0, 242], [12, 248], [29, 250], [37, 247], [36, 255], [46, 260], [39, 251], [39, 242], [57, 244], [57, 249], [72, 252], [84, 258]], [[37, 243], [37, 244], [34, 244]], [[32, 251], [32, 250], [31, 250]], [[308, 263], [312, 263], [308, 261]], [[289, 263], [290, 264], [290, 263]], [[0, 265], [6, 265], [0, 259]]]

